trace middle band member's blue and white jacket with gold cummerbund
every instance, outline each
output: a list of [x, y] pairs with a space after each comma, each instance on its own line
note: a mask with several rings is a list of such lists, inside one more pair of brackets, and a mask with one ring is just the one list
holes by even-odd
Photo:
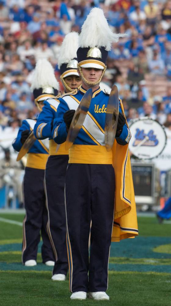
[[68, 155], [68, 151], [65, 150], [65, 145], [60, 146], [56, 150], [56, 143], [52, 139], [51, 122], [57, 117], [59, 104], [59, 100], [55, 98], [45, 100], [34, 127], [34, 135], [37, 139], [49, 138], [49, 155]]

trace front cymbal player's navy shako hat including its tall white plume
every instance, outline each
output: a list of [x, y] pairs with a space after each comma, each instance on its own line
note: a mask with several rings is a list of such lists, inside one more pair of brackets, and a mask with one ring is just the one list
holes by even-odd
[[[79, 35], [77, 50], [78, 68], [106, 69], [108, 51], [113, 42], [126, 34], [111, 31], [102, 9], [93, 8], [87, 16]], [[80, 70], [80, 69], [79, 69]]]

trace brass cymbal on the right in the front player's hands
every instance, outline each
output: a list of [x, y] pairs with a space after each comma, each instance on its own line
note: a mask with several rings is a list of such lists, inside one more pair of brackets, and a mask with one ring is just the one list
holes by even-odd
[[118, 88], [114, 85], [109, 95], [107, 103], [105, 128], [104, 128], [104, 141], [106, 150], [110, 151], [113, 147], [115, 140], [116, 129], [118, 125], [118, 114], [119, 114], [119, 94]]

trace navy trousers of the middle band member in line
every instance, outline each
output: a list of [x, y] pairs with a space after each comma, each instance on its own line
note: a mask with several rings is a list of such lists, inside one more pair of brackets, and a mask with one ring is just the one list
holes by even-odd
[[68, 271], [64, 205], [67, 165], [68, 155], [50, 155], [45, 170], [46, 205], [48, 209], [47, 229], [56, 258], [53, 275], [67, 275]]

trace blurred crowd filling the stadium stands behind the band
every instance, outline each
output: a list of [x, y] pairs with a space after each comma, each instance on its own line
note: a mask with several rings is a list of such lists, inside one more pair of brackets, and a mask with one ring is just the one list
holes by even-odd
[[118, 86], [128, 121], [149, 115], [171, 125], [171, 0], [0, 0], [0, 130], [35, 117], [36, 61], [49, 59], [59, 80], [64, 35], [80, 32], [93, 6], [113, 31], [127, 33], [113, 44], [103, 81]]

